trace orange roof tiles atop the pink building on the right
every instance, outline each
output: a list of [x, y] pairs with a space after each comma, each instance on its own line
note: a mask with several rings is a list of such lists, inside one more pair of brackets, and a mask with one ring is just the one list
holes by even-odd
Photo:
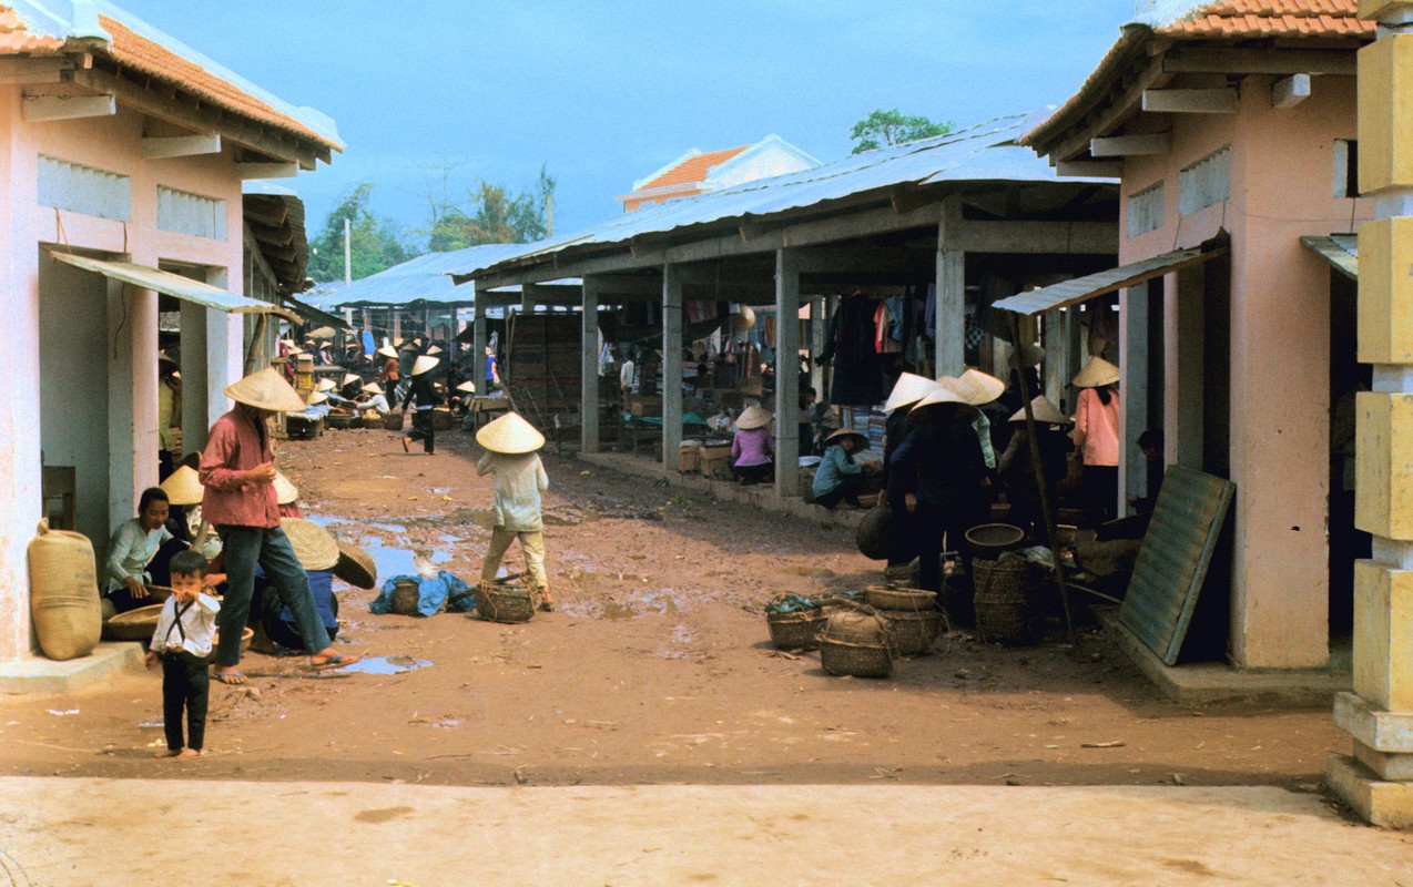
[[1188, 38], [1372, 35], [1375, 23], [1358, 16], [1358, 0], [1222, 0], [1157, 32]]

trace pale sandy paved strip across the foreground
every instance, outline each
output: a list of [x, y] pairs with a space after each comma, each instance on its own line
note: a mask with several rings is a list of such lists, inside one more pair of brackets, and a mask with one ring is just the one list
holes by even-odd
[[37, 887], [1413, 884], [1413, 835], [1277, 788], [0, 778], [0, 849]]

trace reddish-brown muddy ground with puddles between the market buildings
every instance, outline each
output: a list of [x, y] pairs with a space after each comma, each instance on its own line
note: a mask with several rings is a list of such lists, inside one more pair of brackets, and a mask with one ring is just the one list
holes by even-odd
[[[469, 435], [404, 455], [383, 431], [281, 442], [308, 516], [389, 571], [413, 554], [475, 582], [489, 484]], [[208, 757], [154, 761], [161, 678], [0, 699], [0, 774], [425, 784], [1275, 784], [1314, 790], [1348, 737], [1328, 706], [1180, 706], [1096, 629], [1029, 648], [965, 633], [893, 679], [828, 677], [780, 654], [762, 605], [862, 588], [852, 531], [704, 501], [545, 456], [548, 566], [561, 607], [520, 626], [373, 616], [339, 585], [342, 643], [431, 662], [309, 672], [247, 655], [212, 684]], [[513, 554], [513, 558], [516, 555]], [[516, 564], [512, 562], [512, 568]]]

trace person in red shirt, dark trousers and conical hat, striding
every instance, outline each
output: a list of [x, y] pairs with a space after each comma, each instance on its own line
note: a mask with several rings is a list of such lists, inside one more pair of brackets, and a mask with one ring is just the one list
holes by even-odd
[[220, 607], [220, 641], [216, 645], [216, 679], [244, 684], [240, 671], [240, 636], [250, 617], [256, 564], [264, 568], [271, 588], [294, 614], [309, 665], [352, 665], [359, 657], [329, 645], [309, 592], [309, 581], [280, 527], [276, 501], [274, 453], [266, 421], [276, 412], [304, 410], [304, 398], [273, 369], [246, 376], [226, 388], [235, 410], [211, 427], [198, 475], [205, 494], [202, 516], [220, 535], [226, 565], [226, 596]]

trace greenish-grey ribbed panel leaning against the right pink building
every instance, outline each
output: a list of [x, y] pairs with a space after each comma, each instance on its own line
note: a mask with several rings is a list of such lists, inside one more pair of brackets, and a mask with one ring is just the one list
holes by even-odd
[[1235, 494], [1235, 483], [1181, 465], [1163, 477], [1119, 621], [1167, 665], [1177, 664]]

